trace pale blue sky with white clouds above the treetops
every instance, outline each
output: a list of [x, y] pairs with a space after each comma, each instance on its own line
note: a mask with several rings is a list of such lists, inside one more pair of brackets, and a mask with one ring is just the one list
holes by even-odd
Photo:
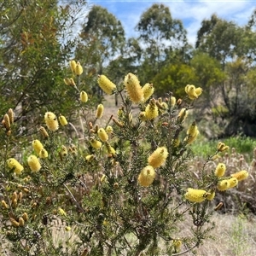
[[188, 32], [189, 43], [195, 44], [196, 32], [201, 26], [203, 19], [209, 19], [213, 13], [226, 20], [234, 20], [239, 25], [245, 25], [253, 9], [255, 1], [113, 1], [113, 0], [90, 0], [108, 9], [115, 15], [125, 28], [127, 38], [136, 37], [134, 27], [143, 12], [150, 8], [153, 3], [163, 3], [171, 10], [172, 17], [183, 21], [183, 26]]

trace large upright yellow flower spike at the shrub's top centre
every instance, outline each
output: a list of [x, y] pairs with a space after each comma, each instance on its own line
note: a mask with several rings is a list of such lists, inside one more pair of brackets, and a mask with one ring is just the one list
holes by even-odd
[[128, 73], [125, 76], [124, 84], [131, 102], [143, 102], [143, 89], [136, 75], [133, 73]]

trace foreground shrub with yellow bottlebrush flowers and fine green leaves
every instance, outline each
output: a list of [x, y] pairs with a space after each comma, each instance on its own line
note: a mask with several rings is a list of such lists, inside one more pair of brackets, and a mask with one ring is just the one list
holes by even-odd
[[[185, 130], [184, 121], [201, 88], [188, 84], [183, 100], [172, 93], [155, 99], [153, 84], [142, 87], [132, 73], [118, 85], [100, 75], [102, 90], [122, 99], [118, 113], [106, 116], [103, 104], [88, 107], [90, 96], [79, 88], [79, 62], [70, 67], [73, 78], [64, 82], [79, 99], [81, 134], [67, 132], [74, 125], [58, 109], [48, 111], [31, 147], [22, 152], [14, 113], [4, 114], [0, 189], [6, 250], [94, 256], [195, 252], [214, 227], [212, 212], [222, 206], [213, 204], [215, 194], [248, 176], [246, 170], [224, 176], [224, 163], [206, 168], [228, 149], [224, 143], [212, 149], [197, 176], [189, 172], [194, 157], [189, 145], [200, 129], [192, 122]], [[181, 228], [185, 219], [189, 234]], [[61, 226], [68, 239], [57, 242], [54, 234]]]

